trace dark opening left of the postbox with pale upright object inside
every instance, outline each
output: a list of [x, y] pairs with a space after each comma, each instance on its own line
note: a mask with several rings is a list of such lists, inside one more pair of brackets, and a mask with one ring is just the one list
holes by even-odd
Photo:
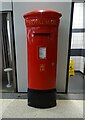
[[16, 92], [16, 56], [13, 31], [13, 13], [0, 12], [2, 48], [2, 87], [0, 92]]

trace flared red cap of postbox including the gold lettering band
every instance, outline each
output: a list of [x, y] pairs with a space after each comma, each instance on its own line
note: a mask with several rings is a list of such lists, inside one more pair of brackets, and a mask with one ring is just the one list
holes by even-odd
[[61, 13], [52, 10], [36, 10], [24, 15], [26, 26], [58, 26]]

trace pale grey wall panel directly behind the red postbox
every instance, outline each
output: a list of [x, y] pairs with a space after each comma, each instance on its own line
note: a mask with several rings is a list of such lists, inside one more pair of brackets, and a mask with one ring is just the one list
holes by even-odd
[[23, 15], [27, 12], [37, 9], [52, 9], [62, 13], [58, 40], [57, 89], [60, 92], [64, 92], [66, 85], [67, 55], [69, 43], [71, 13], [70, 2], [13, 3], [18, 91], [27, 91], [26, 27]]

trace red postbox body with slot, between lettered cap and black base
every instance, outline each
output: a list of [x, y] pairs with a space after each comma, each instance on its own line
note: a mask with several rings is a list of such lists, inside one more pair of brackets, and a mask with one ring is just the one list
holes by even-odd
[[47, 90], [56, 88], [56, 29], [31, 31], [28, 39], [28, 86]]

